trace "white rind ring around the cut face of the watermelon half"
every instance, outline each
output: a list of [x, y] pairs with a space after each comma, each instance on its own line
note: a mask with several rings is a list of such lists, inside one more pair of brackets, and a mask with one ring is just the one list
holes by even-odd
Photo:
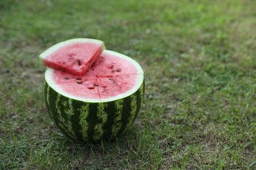
[[[62, 42], [60, 42], [60, 43], [62, 43]], [[129, 61], [130, 63], [133, 63], [133, 65], [135, 65], [135, 67], [137, 68], [137, 80], [136, 80], [135, 86], [133, 86], [133, 88], [131, 88], [130, 90], [128, 90], [125, 93], [121, 93], [114, 97], [108, 97], [106, 99], [100, 99], [100, 98], [99, 99], [91, 99], [91, 98], [87, 98], [87, 97], [77, 97], [75, 95], [65, 92], [64, 90], [62, 90], [62, 88], [60, 88], [60, 86], [58, 86], [58, 84], [56, 84], [56, 82], [54, 82], [54, 79], [53, 79], [54, 69], [51, 69], [51, 68], [47, 68], [47, 70], [45, 71], [45, 80], [46, 80], [47, 84], [49, 84], [49, 86], [51, 86], [51, 88], [53, 88], [53, 90], [55, 90], [56, 92], [66, 96], [66, 97], [76, 99], [79, 101], [90, 102], [90, 103], [116, 101], [117, 99], [123, 99], [123, 98], [128, 97], [129, 95], [132, 95], [133, 93], [137, 92], [137, 90], [139, 90], [141, 84], [144, 81], [144, 71], [143, 71], [142, 67], [140, 67], [139, 63], [137, 63], [137, 61], [135, 61], [134, 59], [129, 58], [128, 56], [119, 54], [118, 52], [104, 50], [102, 53], [110, 54], [112, 56], [116, 56], [117, 58], [125, 59], [125, 60]]]

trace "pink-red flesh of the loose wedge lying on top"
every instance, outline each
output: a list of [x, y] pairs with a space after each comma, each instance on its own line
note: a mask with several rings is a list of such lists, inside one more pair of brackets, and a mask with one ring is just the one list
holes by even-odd
[[56, 50], [44, 63], [53, 69], [66, 71], [73, 75], [83, 75], [95, 62], [102, 46], [92, 42], [77, 42]]

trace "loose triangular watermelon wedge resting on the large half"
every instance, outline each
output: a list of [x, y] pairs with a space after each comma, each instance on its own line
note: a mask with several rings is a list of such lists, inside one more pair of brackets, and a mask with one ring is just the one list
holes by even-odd
[[43, 63], [72, 75], [84, 75], [105, 49], [96, 39], [70, 39], [48, 48], [39, 55]]

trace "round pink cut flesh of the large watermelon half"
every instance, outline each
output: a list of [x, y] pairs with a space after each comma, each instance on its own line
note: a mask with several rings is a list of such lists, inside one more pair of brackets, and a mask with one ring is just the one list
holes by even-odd
[[137, 75], [138, 69], [133, 63], [102, 52], [84, 75], [54, 70], [52, 78], [64, 92], [77, 97], [106, 99], [133, 88]]

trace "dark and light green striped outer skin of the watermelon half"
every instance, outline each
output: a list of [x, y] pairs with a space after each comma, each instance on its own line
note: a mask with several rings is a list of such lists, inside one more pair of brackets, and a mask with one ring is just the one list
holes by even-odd
[[116, 101], [88, 103], [56, 92], [45, 81], [45, 103], [54, 124], [72, 139], [100, 141], [123, 133], [137, 117], [144, 81], [137, 92]]

